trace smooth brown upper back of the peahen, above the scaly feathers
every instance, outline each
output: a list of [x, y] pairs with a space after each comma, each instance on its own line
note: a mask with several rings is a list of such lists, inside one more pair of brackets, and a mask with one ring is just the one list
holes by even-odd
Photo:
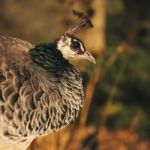
[[4, 62], [8, 65], [23, 62], [32, 47], [29, 42], [18, 38], [0, 36], [0, 67]]

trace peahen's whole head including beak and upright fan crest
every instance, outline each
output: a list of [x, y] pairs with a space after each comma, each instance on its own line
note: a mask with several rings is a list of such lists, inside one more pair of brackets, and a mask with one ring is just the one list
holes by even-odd
[[73, 10], [77, 19], [70, 25], [64, 35], [57, 40], [57, 49], [61, 51], [63, 57], [67, 60], [87, 59], [95, 63], [94, 57], [86, 50], [82, 41], [75, 37], [75, 33], [82, 28], [93, 27], [90, 19], [82, 12]]

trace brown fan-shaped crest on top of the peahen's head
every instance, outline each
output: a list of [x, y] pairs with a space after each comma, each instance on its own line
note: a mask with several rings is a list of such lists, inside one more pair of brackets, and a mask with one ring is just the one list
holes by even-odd
[[83, 28], [91, 28], [93, 27], [92, 22], [90, 21], [89, 17], [86, 16], [84, 13], [73, 10], [73, 15], [77, 17], [74, 23], [69, 27], [66, 34], [73, 35], [79, 32]]

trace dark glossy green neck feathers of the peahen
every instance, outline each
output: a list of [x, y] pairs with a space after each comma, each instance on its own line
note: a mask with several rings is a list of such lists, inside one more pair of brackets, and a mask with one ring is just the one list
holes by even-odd
[[39, 44], [29, 50], [32, 61], [53, 74], [61, 73], [69, 65], [69, 61], [63, 58], [56, 44]]

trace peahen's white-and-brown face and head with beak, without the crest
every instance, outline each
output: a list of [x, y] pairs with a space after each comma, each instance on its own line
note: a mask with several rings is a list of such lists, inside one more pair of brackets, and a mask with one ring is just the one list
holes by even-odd
[[57, 41], [57, 49], [67, 60], [87, 59], [95, 63], [94, 57], [86, 50], [82, 41], [73, 35], [63, 35]]

